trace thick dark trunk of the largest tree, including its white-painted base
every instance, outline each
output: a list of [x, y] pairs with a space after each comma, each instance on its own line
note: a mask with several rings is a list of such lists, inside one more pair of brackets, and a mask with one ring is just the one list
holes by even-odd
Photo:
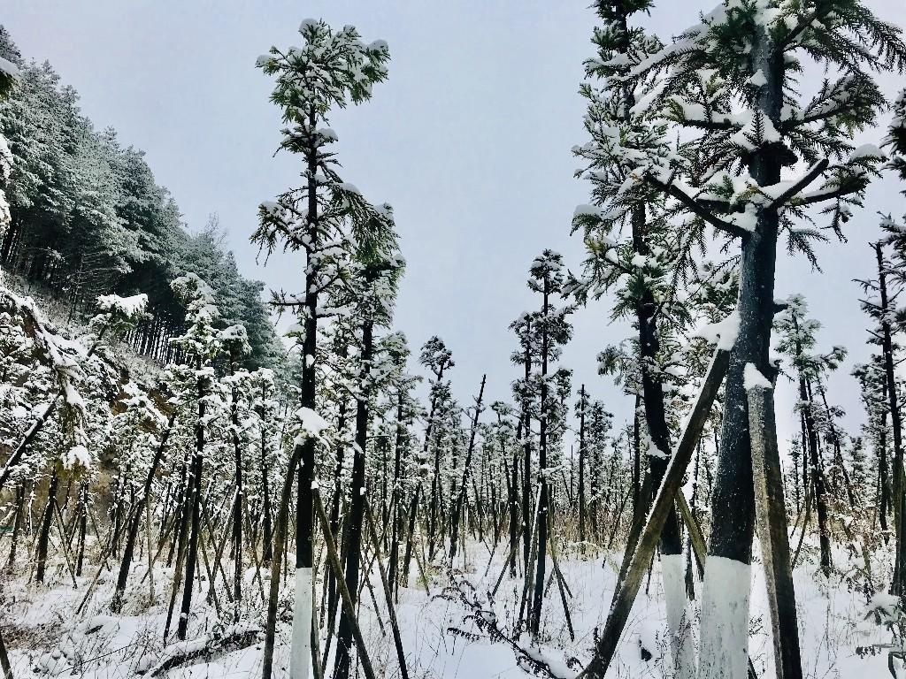
[[[783, 54], [776, 53], [766, 28], [752, 35], [752, 72], [765, 76], [757, 108], [775, 125], [781, 124], [784, 103]], [[780, 181], [776, 148], [757, 148], [749, 174], [758, 186]], [[774, 279], [779, 218], [776, 208], [758, 210], [754, 231], [742, 236], [739, 263], [739, 330], [730, 350], [724, 418], [718, 450], [718, 472], [711, 498], [711, 540], [702, 593], [699, 679], [741, 677], [748, 662], [748, 603], [751, 589], [752, 536], [755, 499], [751, 441], [743, 373], [753, 364], [771, 376], [769, 358], [774, 320]]]

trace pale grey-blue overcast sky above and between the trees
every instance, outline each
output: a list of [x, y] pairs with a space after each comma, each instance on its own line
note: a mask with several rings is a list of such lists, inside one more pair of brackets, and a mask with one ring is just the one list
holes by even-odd
[[[588, 186], [573, 178], [570, 148], [584, 141], [577, 94], [595, 17], [588, 0], [557, 2], [266, 3], [240, 0], [6, 0], [0, 21], [26, 58], [53, 63], [82, 95], [99, 128], [148, 153], [160, 184], [176, 197], [189, 229], [217, 212], [242, 272], [274, 288], [300, 290], [299, 256], [256, 262], [248, 244], [256, 206], [298, 184], [300, 165], [274, 157], [279, 111], [272, 82], [254, 68], [271, 44], [298, 43], [308, 16], [355, 24], [366, 42], [390, 43], [390, 78], [373, 99], [331, 120], [342, 177], [372, 202], [394, 206], [408, 261], [397, 327], [416, 351], [437, 334], [454, 354], [454, 393], [467, 402], [483, 372], [491, 399], [508, 398], [516, 370], [510, 320], [535, 305], [525, 287], [529, 263], [545, 247], [577, 268], [582, 246], [569, 235], [573, 207]], [[663, 39], [696, 21], [714, 0], [661, 0], [646, 22]], [[906, 23], [902, 0], [868, 3]], [[891, 96], [894, 77], [882, 77]], [[863, 141], [877, 142], [881, 132]], [[848, 244], [818, 248], [824, 273], [781, 253], [777, 296], [802, 292], [824, 323], [821, 346], [843, 344], [851, 357], [829, 397], [862, 421], [849, 377], [868, 349], [855, 277], [872, 275], [869, 241], [878, 210], [901, 215], [906, 203], [892, 179], [873, 185], [847, 228]], [[597, 302], [574, 316], [564, 352], [574, 386], [585, 383], [620, 422], [631, 404], [596, 373], [595, 355], [627, 330], [609, 323]], [[781, 435], [794, 432], [792, 391], [778, 394]], [[853, 432], [854, 433], [854, 432]]]

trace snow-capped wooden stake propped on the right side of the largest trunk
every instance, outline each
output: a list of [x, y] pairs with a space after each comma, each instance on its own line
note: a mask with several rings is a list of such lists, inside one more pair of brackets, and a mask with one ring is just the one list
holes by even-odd
[[[747, 366], [747, 370], [755, 369]], [[786, 501], [777, 452], [774, 387], [766, 378], [748, 387], [748, 428], [752, 439], [755, 512], [765, 563], [767, 604], [774, 636], [777, 679], [802, 679], [793, 570], [786, 534]]]

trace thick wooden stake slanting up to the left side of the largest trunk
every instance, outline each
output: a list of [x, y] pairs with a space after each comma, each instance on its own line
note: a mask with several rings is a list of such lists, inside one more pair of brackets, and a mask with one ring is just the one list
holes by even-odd
[[727, 374], [728, 363], [729, 352], [725, 349], [717, 349], [708, 366], [708, 373], [705, 375], [699, 397], [689, 414], [689, 420], [679, 439], [679, 444], [670, 457], [663, 481], [660, 483], [654, 502], [651, 503], [648, 521], [645, 522], [645, 527], [641, 531], [622, 587], [613, 599], [607, 622], [594, 649], [594, 657], [580, 677], [603, 679], [604, 674], [607, 673], [607, 668], [610, 666], [620, 642], [623, 627], [626, 626], [626, 620], [629, 618], [632, 604], [639, 594], [645, 570], [648, 568], [658, 540], [660, 540], [660, 531], [667, 520], [668, 513], [673, 510], [674, 498], [682, 487], [683, 476], [689, 467], [695, 446], [699, 442], [701, 430], [711, 412], [711, 405], [718, 394], [720, 384]]

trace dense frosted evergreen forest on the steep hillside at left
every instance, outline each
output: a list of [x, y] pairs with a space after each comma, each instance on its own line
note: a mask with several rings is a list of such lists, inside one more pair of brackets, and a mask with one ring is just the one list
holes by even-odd
[[78, 92], [50, 63], [25, 58], [2, 26], [0, 58], [19, 71], [0, 102], [12, 167], [10, 226], [0, 241], [5, 271], [52, 291], [71, 316], [90, 314], [99, 294], [146, 293], [149, 318], [127, 340], [160, 361], [185, 320], [169, 282], [197, 273], [214, 288], [224, 322], [246, 326], [249, 367], [273, 365], [283, 352], [261, 299], [264, 285], [239, 273], [217, 216], [184, 224], [144, 152], [124, 145], [115, 129], [96, 129]]

